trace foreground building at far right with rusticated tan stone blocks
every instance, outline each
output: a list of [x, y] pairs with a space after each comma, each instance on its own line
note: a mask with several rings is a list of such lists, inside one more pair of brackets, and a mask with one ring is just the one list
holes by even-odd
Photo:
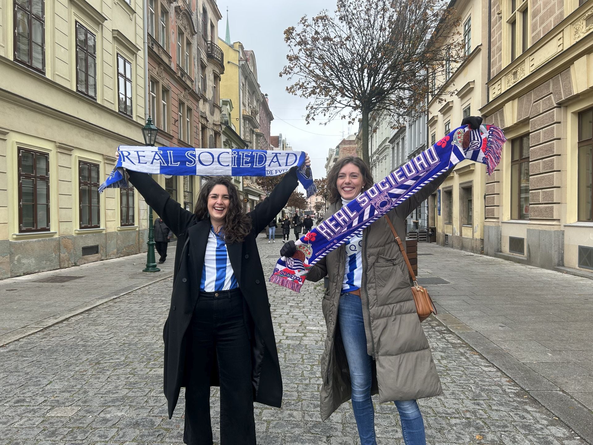
[[508, 142], [486, 179], [484, 250], [590, 274], [593, 1], [493, 0], [490, 12], [481, 111]]

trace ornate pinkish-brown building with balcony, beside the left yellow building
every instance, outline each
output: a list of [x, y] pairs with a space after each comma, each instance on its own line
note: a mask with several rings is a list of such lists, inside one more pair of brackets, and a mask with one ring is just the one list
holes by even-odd
[[[157, 145], [222, 147], [221, 18], [214, 0], [148, 0], [149, 112], [159, 128]], [[173, 199], [192, 210], [204, 180], [158, 179]]]

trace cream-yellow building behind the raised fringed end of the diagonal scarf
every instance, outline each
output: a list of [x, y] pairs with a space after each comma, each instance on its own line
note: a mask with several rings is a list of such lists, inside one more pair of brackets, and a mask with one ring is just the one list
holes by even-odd
[[[459, 33], [464, 59], [451, 61], [442, 75], [429, 72], [433, 90], [429, 100], [428, 136], [434, 144], [466, 116], [479, 115], [486, 103], [488, 13], [481, 0], [458, 0]], [[441, 187], [429, 197], [428, 227], [436, 229], [436, 242], [467, 252], [482, 253], [486, 166], [473, 161], [458, 164]]]

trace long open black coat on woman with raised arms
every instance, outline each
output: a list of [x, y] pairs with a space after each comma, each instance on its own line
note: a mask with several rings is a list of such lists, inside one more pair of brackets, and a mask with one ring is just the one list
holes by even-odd
[[[211, 223], [209, 219], [198, 221], [195, 214], [181, 208], [148, 174], [128, 173], [130, 182], [144, 196], [146, 203], [152, 206], [178, 238], [171, 306], [162, 333], [165, 342], [164, 393], [171, 418], [179, 390], [181, 386], [186, 386], [184, 334], [199, 295]], [[297, 185], [296, 169], [291, 169], [269, 198], [248, 214], [253, 227], [243, 243], [227, 244], [228, 257], [246, 303], [246, 321], [251, 327], [253, 398], [256, 402], [278, 408], [282, 403], [282, 376], [266, 291], [266, 276], [257, 251], [256, 236], [279, 214]], [[217, 363], [216, 357], [213, 363]], [[211, 386], [218, 386], [218, 369], [212, 371]]]

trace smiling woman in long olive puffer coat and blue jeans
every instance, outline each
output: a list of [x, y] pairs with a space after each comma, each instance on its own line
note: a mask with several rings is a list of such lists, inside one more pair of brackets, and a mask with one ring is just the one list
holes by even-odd
[[[482, 119], [470, 123], [477, 128]], [[473, 122], [473, 125], [472, 125]], [[429, 182], [387, 213], [398, 233], [406, 217], [445, 180]], [[327, 175], [330, 208], [325, 218], [374, 185], [361, 158], [337, 161]], [[286, 243], [281, 256], [296, 252]], [[393, 400], [406, 445], [425, 445], [425, 428], [416, 399], [442, 393], [428, 340], [410, 291], [403, 255], [385, 218], [351, 237], [311, 267], [307, 281], [329, 278], [321, 303], [327, 339], [321, 357], [321, 418], [326, 420], [346, 400], [358, 427], [361, 445], [376, 445], [372, 394]]]

